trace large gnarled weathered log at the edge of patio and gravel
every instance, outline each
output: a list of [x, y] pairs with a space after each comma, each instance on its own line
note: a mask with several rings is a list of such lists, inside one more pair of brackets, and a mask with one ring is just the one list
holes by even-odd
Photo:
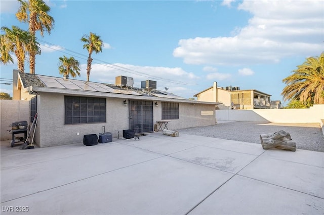
[[263, 149], [278, 148], [296, 151], [296, 142], [286, 131], [279, 130], [273, 134], [261, 134], [260, 139]]

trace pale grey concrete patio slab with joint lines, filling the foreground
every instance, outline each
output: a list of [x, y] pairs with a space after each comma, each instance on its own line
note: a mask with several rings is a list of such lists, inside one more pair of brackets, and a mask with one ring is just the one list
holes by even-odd
[[324, 214], [324, 153], [161, 132], [140, 141], [27, 150], [2, 141], [1, 209], [1, 214]]

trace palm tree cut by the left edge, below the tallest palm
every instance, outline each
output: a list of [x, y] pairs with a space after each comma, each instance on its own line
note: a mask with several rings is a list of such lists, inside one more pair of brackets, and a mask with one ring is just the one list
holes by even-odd
[[12, 26], [12, 29], [7, 27], [1, 29], [5, 31], [5, 34], [0, 36], [1, 62], [3, 64], [13, 63], [10, 53], [14, 52], [18, 61], [18, 70], [24, 72], [26, 53], [41, 53], [39, 43], [28, 31], [17, 26]]

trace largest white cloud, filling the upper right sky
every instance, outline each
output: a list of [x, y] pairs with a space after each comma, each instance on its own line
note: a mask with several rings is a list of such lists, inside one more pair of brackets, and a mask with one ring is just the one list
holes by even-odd
[[253, 14], [231, 37], [181, 39], [173, 55], [186, 64], [278, 63], [282, 58], [319, 55], [323, 50], [322, 1], [244, 1]]

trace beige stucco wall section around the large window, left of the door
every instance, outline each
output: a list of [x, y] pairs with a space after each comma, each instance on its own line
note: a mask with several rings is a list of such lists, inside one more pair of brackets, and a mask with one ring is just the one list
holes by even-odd
[[129, 128], [128, 107], [121, 98], [106, 98], [106, 123], [64, 125], [64, 94], [42, 93], [39, 99], [39, 146], [60, 145], [83, 142], [86, 134], [111, 132], [117, 137], [117, 130], [122, 136], [124, 129]]

